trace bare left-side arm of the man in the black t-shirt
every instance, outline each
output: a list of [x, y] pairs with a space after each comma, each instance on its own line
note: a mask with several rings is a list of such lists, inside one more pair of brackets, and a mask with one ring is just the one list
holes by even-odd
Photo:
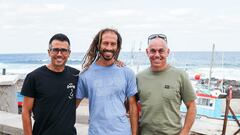
[[22, 106], [22, 123], [24, 135], [32, 135], [32, 120], [31, 113], [33, 108], [34, 98], [24, 97]]

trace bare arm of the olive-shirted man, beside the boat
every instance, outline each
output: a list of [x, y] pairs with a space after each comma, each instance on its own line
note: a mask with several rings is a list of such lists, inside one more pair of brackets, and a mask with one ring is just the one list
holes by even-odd
[[180, 135], [188, 135], [190, 132], [190, 129], [194, 123], [195, 116], [196, 116], [196, 103], [195, 101], [189, 101], [185, 103], [187, 107], [187, 114], [185, 117], [185, 122], [182, 128], [182, 131], [180, 132]]

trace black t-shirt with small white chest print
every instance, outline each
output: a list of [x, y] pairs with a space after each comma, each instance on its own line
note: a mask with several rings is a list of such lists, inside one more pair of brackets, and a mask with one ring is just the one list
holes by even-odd
[[34, 98], [33, 135], [75, 135], [76, 89], [79, 71], [65, 66], [53, 72], [42, 66], [29, 73], [21, 94]]

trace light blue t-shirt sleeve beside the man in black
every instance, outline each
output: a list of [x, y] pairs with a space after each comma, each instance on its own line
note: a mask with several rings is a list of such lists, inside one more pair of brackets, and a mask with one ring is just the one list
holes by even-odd
[[86, 91], [86, 87], [84, 85], [84, 80], [83, 77], [81, 77], [81, 74], [79, 75], [79, 79], [78, 79], [78, 85], [77, 85], [77, 93], [76, 93], [76, 98], [77, 99], [83, 99], [84, 97], [88, 97], [87, 96], [87, 91]]

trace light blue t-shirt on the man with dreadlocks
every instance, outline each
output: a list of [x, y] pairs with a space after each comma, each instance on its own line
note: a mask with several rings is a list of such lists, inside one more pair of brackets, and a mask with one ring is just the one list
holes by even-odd
[[81, 73], [77, 99], [89, 99], [89, 135], [131, 135], [124, 101], [137, 93], [136, 77], [127, 67], [93, 63]]

